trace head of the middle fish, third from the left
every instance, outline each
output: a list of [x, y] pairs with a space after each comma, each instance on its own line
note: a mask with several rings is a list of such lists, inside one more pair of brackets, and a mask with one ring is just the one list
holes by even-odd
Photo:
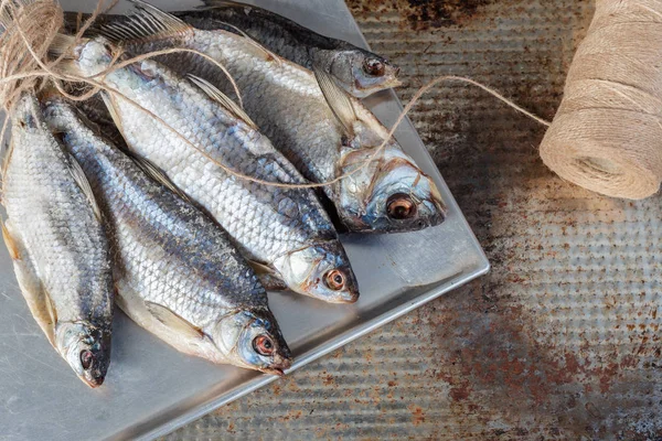
[[359, 283], [339, 240], [321, 241], [275, 261], [287, 286], [329, 303], [354, 303]]

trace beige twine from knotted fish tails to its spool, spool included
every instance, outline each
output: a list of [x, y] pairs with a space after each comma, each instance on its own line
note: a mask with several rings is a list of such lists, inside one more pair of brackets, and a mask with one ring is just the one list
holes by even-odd
[[[93, 14], [79, 26], [72, 50], [83, 41], [86, 30], [99, 14], [115, 6], [99, 0]], [[637, 22], [637, 25], [632, 25]], [[598, 0], [596, 15], [586, 40], [577, 50], [568, 72], [565, 96], [553, 122], [505, 98], [493, 88], [469, 77], [444, 75], [418, 89], [405, 106], [383, 142], [353, 170], [328, 182], [303, 184], [275, 183], [245, 175], [211, 158], [182, 133], [152, 111], [105, 84], [99, 78], [132, 63], [178, 52], [195, 53], [212, 62], [231, 79], [242, 106], [241, 90], [227, 69], [205, 54], [172, 47], [139, 56], [124, 56], [115, 51], [110, 66], [92, 77], [64, 72], [60, 64], [65, 54], [50, 53], [61, 35], [64, 14], [52, 0], [2, 0], [0, 24], [0, 103], [11, 116], [13, 104], [24, 92], [40, 93], [55, 88], [72, 100], [85, 100], [99, 92], [120, 98], [162, 123], [173, 136], [200, 151], [228, 174], [268, 186], [311, 189], [332, 185], [376, 160], [416, 103], [431, 88], [448, 82], [479, 87], [509, 107], [548, 127], [540, 153], [544, 163], [559, 176], [588, 190], [615, 197], [639, 200], [656, 193], [662, 182], [662, 74], [655, 69], [662, 45], [662, 6], [654, 0], [621, 2]], [[623, 37], [623, 35], [628, 35]], [[643, 40], [642, 40], [643, 39]], [[642, 47], [636, 44], [651, 41]], [[656, 62], [654, 62], [656, 60]], [[1, 136], [8, 127], [6, 119]]]

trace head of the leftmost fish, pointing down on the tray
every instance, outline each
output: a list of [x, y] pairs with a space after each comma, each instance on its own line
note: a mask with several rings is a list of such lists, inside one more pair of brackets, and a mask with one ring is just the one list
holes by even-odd
[[86, 322], [61, 322], [55, 346], [72, 369], [89, 387], [104, 383], [110, 364], [110, 330]]

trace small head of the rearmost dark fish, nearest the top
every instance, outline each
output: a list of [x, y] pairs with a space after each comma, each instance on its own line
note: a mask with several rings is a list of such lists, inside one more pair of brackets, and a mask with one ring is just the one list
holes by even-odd
[[[360, 49], [323, 51], [331, 57], [328, 71], [351, 95], [364, 98], [375, 92], [397, 87], [399, 67], [378, 55]], [[323, 62], [322, 62], [323, 63]]]

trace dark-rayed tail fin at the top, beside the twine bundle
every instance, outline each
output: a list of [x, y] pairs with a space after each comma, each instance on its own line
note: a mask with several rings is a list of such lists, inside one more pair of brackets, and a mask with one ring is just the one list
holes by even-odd
[[121, 23], [104, 24], [97, 32], [118, 43], [136, 40], [160, 40], [190, 32], [193, 28], [177, 17], [161, 11], [142, 0], [128, 0], [136, 12]]

